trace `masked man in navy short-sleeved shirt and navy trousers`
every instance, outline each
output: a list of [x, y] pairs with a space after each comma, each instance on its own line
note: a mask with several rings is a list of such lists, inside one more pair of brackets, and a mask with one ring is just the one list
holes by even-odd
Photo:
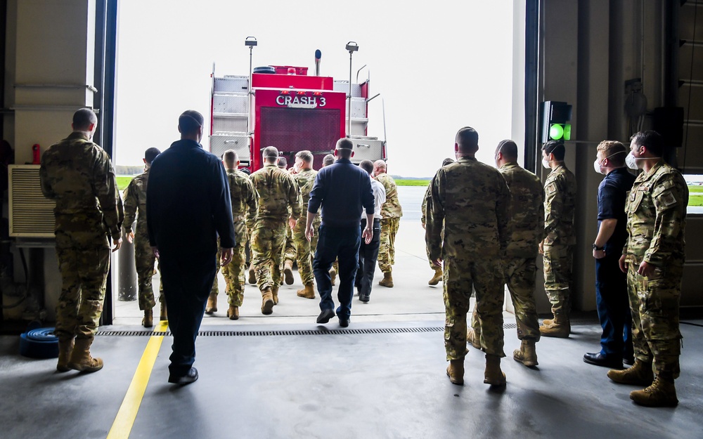
[[611, 369], [621, 369], [623, 361], [633, 364], [627, 276], [618, 264], [627, 240], [625, 200], [635, 181], [625, 167], [627, 153], [622, 143], [605, 140], [593, 163], [596, 172], [606, 174], [598, 186], [598, 236], [593, 243], [595, 302], [603, 332], [600, 353], [586, 353], [583, 361]]

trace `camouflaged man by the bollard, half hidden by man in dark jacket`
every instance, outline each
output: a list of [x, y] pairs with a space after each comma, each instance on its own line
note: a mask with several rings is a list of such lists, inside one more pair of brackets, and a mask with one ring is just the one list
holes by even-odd
[[[138, 283], [139, 309], [144, 311], [141, 324], [144, 327], [154, 325], [153, 308], [156, 305], [151, 278], [154, 276], [154, 263], [156, 256], [149, 244], [149, 233], [146, 228], [146, 186], [149, 181], [149, 168], [151, 162], [161, 153], [158, 148], [149, 148], [144, 153], [144, 172], [131, 179], [127, 189], [122, 194], [124, 197], [124, 237], [127, 242], [134, 242], [134, 263]], [[132, 225], [136, 218], [136, 228]], [[136, 231], [136, 232], [135, 232]], [[161, 303], [161, 320], [167, 319], [166, 296], [159, 295]]]

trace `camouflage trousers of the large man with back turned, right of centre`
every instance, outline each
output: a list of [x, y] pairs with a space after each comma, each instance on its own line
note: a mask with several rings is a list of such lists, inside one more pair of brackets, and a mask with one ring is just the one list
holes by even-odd
[[476, 292], [475, 320], [482, 350], [505, 357], [503, 352], [503, 268], [501, 259], [480, 262], [456, 257], [444, 259], [444, 348], [447, 360], [458, 360], [467, 353], [466, 315], [472, 290]]

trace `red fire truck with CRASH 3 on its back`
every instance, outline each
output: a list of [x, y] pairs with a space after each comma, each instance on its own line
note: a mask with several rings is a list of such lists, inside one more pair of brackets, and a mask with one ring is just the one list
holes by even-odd
[[270, 65], [255, 67], [249, 76], [217, 77], [213, 68], [210, 151], [220, 156], [235, 150], [241, 166], [253, 172], [262, 167], [262, 150], [267, 146], [275, 146], [289, 164], [296, 152], [310, 150], [314, 169], [319, 169], [322, 157], [334, 151], [349, 129], [353, 162], [385, 159], [385, 140], [366, 132], [368, 103], [378, 96], [370, 97], [368, 79], [352, 84], [349, 103], [349, 81], [308, 75], [307, 70]]

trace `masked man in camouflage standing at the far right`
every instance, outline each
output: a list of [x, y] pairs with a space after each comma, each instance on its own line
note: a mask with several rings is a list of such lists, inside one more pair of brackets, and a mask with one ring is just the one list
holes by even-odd
[[643, 170], [627, 199], [628, 239], [620, 258], [627, 273], [635, 364], [608, 372], [616, 383], [648, 386], [630, 393], [631, 400], [648, 407], [678, 404], [673, 380], [681, 372], [678, 307], [688, 186], [664, 162], [663, 150], [659, 133], [643, 131], [632, 137], [625, 160], [629, 168]]

